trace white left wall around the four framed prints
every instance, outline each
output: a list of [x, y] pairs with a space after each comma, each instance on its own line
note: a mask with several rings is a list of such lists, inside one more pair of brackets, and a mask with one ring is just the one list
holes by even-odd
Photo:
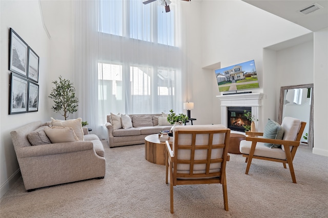
[[[1, 50], [0, 50], [0, 184], [1, 196], [20, 176], [10, 131], [34, 120], [49, 119], [47, 86], [49, 82], [50, 43], [43, 28], [38, 1], [0, 1]], [[8, 70], [9, 28], [22, 37], [39, 56], [39, 105], [38, 112], [8, 115], [9, 81]]]

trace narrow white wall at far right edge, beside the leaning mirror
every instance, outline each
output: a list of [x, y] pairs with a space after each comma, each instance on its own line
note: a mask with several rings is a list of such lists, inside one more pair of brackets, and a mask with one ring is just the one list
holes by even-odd
[[[328, 28], [314, 33], [314, 148], [328, 156]], [[323, 116], [322, 116], [323, 115]]]

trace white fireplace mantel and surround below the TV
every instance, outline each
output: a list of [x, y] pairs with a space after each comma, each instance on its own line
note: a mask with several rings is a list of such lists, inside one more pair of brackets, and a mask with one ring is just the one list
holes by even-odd
[[243, 93], [217, 95], [221, 101], [221, 124], [228, 126], [227, 107], [252, 107], [252, 115], [259, 119], [259, 107], [262, 105], [263, 93]]

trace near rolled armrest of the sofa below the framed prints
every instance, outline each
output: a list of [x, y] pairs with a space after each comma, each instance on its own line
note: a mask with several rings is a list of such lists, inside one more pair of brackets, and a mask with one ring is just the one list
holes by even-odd
[[36, 157], [44, 155], [63, 154], [93, 149], [92, 141], [72, 141], [41, 146], [27, 146], [16, 150], [18, 158]]

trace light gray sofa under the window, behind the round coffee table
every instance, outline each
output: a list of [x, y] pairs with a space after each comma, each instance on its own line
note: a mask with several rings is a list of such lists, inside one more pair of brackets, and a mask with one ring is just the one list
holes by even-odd
[[[170, 130], [173, 125], [169, 123], [161, 124], [159, 117], [162, 114], [128, 114], [132, 121], [132, 128], [114, 129], [111, 115], [107, 115], [106, 128], [108, 132], [109, 147], [130, 146], [132, 144], [145, 143], [145, 137], [159, 133], [163, 130]], [[161, 118], [159, 118], [161, 119]], [[166, 119], [163, 118], [163, 119]]]

